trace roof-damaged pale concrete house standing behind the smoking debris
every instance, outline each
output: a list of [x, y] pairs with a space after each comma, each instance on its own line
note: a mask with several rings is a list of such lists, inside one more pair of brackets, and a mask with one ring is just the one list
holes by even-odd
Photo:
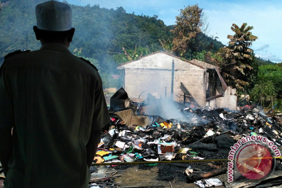
[[182, 60], [166, 52], [155, 52], [117, 67], [123, 70], [129, 98], [173, 97], [187, 106], [236, 109], [236, 89], [228, 87], [221, 70], [193, 59]]

